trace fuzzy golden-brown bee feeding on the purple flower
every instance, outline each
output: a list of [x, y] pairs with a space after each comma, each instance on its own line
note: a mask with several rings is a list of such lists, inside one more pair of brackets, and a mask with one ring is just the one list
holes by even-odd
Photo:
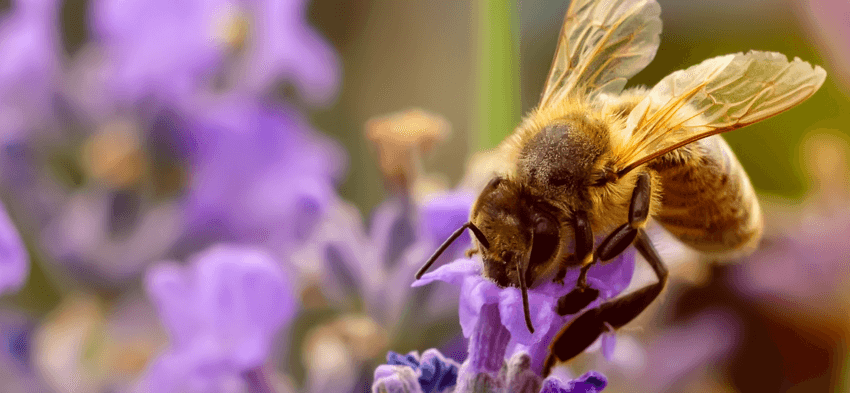
[[564, 326], [544, 374], [606, 329], [629, 323], [661, 293], [667, 269], [644, 231], [648, 220], [718, 258], [758, 245], [758, 199], [718, 134], [790, 109], [826, 78], [798, 58], [750, 51], [705, 60], [652, 88], [624, 89], [655, 57], [660, 13], [655, 0], [572, 1], [539, 105], [498, 147], [505, 167], [481, 191], [469, 222], [417, 273], [469, 229], [483, 274], [521, 289], [533, 331], [528, 288], [563, 282], [567, 269], [581, 269], [557, 310], [578, 313], [599, 294], [587, 285], [588, 268], [634, 245], [657, 283]]

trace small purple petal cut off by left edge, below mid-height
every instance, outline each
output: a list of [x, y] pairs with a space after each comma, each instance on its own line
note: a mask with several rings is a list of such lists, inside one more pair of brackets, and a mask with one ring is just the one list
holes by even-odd
[[29, 269], [29, 254], [21, 235], [0, 204], [0, 295], [20, 289]]

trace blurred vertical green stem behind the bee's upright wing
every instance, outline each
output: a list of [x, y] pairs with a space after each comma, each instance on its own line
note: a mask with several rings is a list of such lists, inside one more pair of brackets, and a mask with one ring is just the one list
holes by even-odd
[[518, 25], [513, 0], [478, 0], [478, 151], [496, 147], [520, 119]]

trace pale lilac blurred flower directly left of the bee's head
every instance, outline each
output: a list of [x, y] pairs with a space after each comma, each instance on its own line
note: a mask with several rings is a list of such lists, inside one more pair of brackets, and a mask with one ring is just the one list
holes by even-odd
[[[357, 210], [337, 202], [293, 260], [305, 274], [320, 277], [325, 296], [337, 306], [362, 299], [367, 312], [390, 327], [401, 322], [405, 307], [414, 302], [422, 304], [424, 312], [410, 315], [411, 322], [426, 323], [453, 308], [456, 303], [450, 299], [455, 296], [410, 291], [414, 273], [445, 240], [446, 228], [457, 229], [466, 222], [471, 204], [472, 196], [465, 191], [435, 194], [422, 205], [403, 197], [390, 198], [375, 209], [367, 234]], [[463, 239], [456, 242], [448, 258], [468, 247], [466, 239], [466, 244]], [[435, 296], [445, 297], [448, 307], [435, 301]]]

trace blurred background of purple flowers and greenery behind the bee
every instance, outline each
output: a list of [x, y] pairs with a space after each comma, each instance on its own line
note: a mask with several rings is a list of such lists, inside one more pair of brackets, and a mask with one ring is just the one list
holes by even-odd
[[[656, 230], [669, 289], [572, 367], [850, 391], [850, 4], [658, 2], [630, 86], [751, 49], [828, 78], [724, 135], [761, 248], [708, 264]], [[0, 391], [359, 392], [388, 350], [462, 361], [457, 289], [409, 284], [536, 105], [567, 7], [0, 0]]]

